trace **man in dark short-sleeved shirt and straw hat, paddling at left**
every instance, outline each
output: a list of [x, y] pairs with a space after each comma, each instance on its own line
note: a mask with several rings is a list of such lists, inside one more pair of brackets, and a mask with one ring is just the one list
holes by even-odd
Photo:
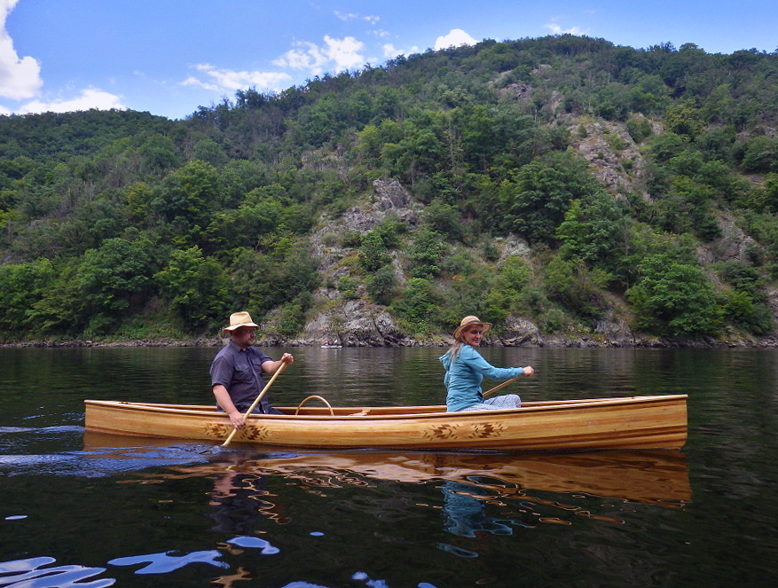
[[[223, 335], [229, 333], [230, 341], [216, 354], [210, 369], [216, 403], [229, 415], [232, 426], [238, 429], [246, 424], [243, 413], [248, 411], [264, 388], [263, 373], [272, 375], [282, 364], [295, 361], [291, 353], [273, 361], [252, 347], [258, 326], [248, 312], [230, 315], [230, 325], [222, 329]], [[280, 414], [268, 403], [267, 396], [263, 397], [254, 412]]]

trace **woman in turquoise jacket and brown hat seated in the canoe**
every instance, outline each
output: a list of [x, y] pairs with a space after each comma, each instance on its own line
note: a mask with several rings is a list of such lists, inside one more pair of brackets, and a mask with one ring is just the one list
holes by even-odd
[[494, 367], [490, 365], [476, 347], [481, 343], [483, 333], [491, 329], [491, 323], [484, 323], [477, 317], [465, 317], [454, 331], [454, 344], [440, 362], [445, 368], [444, 384], [448, 390], [445, 404], [448, 412], [494, 411], [503, 408], [519, 408], [522, 399], [516, 394], [495, 396], [484, 400], [481, 380], [510, 380], [518, 376], [531, 376], [535, 370], [526, 367]]

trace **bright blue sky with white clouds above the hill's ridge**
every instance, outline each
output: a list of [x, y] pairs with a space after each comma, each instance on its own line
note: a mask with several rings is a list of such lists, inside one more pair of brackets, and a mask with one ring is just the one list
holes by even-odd
[[180, 119], [239, 89], [562, 33], [773, 52], [778, 2], [0, 0], [0, 114], [115, 107]]

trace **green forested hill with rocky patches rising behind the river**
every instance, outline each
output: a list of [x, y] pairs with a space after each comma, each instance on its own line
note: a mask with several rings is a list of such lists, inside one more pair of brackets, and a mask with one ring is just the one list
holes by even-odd
[[778, 52], [484, 41], [0, 117], [0, 341], [774, 341]]

